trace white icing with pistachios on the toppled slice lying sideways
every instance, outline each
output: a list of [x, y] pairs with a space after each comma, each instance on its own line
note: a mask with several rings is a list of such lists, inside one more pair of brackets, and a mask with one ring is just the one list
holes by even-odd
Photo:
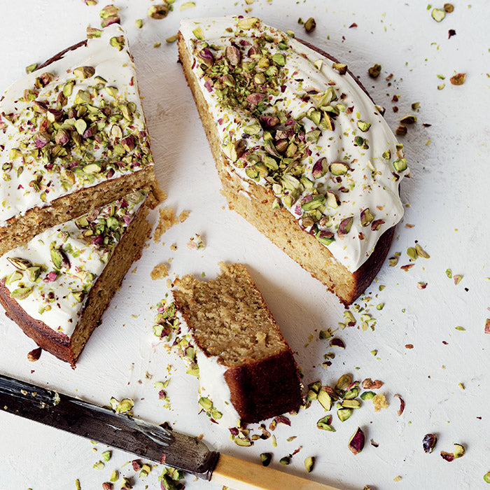
[[172, 291], [157, 309], [155, 335], [172, 342], [188, 365], [188, 374], [199, 378], [200, 408], [223, 427], [236, 427], [240, 416], [230, 401], [230, 387], [225, 380], [228, 367], [221, 363], [219, 356], [209, 356], [197, 345], [192, 330], [175, 307]]

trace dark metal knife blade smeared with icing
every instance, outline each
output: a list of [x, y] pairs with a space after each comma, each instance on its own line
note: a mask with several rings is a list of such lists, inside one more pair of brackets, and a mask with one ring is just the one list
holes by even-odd
[[211, 479], [219, 453], [196, 437], [0, 374], [0, 409]]

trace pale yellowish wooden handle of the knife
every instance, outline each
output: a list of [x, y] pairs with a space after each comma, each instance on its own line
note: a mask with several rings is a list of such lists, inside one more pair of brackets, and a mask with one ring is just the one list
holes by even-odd
[[220, 454], [211, 482], [234, 490], [339, 490], [226, 454]]

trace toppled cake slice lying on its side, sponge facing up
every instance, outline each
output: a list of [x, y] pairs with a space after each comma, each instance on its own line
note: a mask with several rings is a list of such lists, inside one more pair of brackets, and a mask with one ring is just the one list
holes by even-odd
[[296, 411], [302, 395], [293, 353], [244, 265], [220, 266], [215, 280], [176, 281], [155, 333], [175, 337], [188, 372], [200, 377], [200, 407], [214, 421], [230, 428]]

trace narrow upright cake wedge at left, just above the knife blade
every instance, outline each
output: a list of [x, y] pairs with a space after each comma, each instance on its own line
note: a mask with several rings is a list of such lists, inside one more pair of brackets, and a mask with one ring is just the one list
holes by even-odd
[[0, 303], [34, 342], [75, 365], [151, 232], [148, 192], [55, 225], [0, 257]]

